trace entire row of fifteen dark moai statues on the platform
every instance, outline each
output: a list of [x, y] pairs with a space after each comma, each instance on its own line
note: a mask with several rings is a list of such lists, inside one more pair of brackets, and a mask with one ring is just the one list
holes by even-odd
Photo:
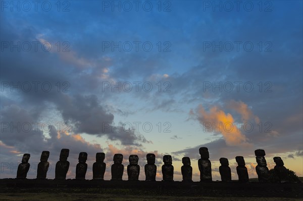
[[[209, 160], [209, 151], [206, 147], [199, 149], [201, 158], [198, 160], [198, 168], [200, 171], [200, 181], [212, 181], [212, 167]], [[256, 150], [256, 161], [258, 163], [256, 171], [260, 182], [267, 182], [269, 177], [269, 170], [265, 160], [265, 151]], [[70, 163], [67, 161], [69, 156], [68, 149], [62, 149], [60, 153], [60, 159], [56, 164], [55, 179], [66, 179], [66, 174], [69, 169]], [[49, 167], [47, 159], [49, 157], [48, 151], [43, 151], [40, 158], [40, 163], [37, 167], [37, 179], [45, 179], [46, 173]], [[22, 163], [18, 166], [17, 178], [26, 178], [29, 170], [28, 160], [30, 154], [24, 154]], [[104, 174], [106, 170], [106, 163], [104, 163], [105, 153], [96, 153], [96, 162], [92, 166], [93, 179], [104, 180]], [[237, 156], [236, 162], [238, 164], [236, 170], [240, 182], [248, 182], [248, 172], [245, 167], [245, 161], [242, 156]], [[85, 179], [87, 171], [87, 153], [81, 152], [79, 154], [79, 163], [76, 166], [76, 179]], [[127, 166], [128, 180], [137, 181], [139, 179], [140, 166], [138, 165], [138, 156], [129, 156], [129, 165]], [[144, 166], [145, 180], [156, 181], [157, 166], [155, 165], [155, 154], [146, 155], [147, 164]], [[124, 165], [122, 164], [123, 155], [114, 155], [114, 164], [111, 167], [112, 180], [122, 180]], [[163, 181], [173, 181], [174, 166], [172, 165], [172, 157], [165, 155], [163, 157], [164, 165], [162, 166]], [[280, 157], [274, 157], [276, 163], [275, 172], [277, 173], [281, 182], [287, 181], [287, 169], [284, 167], [284, 163]], [[182, 181], [192, 182], [192, 167], [189, 157], [182, 158], [183, 166], [181, 167]], [[220, 158], [221, 166], [219, 172], [222, 181], [231, 181], [231, 169], [227, 158]]]

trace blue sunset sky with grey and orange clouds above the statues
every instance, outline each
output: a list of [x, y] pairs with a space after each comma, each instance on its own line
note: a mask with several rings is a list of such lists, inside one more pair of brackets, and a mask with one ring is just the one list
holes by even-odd
[[146, 154], [172, 155], [174, 180], [208, 147], [213, 180], [220, 158], [236, 174], [254, 151], [269, 169], [280, 156], [303, 176], [302, 1], [1, 1], [0, 178], [15, 178], [29, 153], [36, 178], [41, 152], [55, 177], [69, 149], [67, 178], [87, 152], [126, 166]]

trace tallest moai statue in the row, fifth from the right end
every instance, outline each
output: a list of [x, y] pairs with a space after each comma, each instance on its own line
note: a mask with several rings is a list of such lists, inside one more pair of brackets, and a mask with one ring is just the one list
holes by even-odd
[[200, 181], [212, 181], [212, 164], [209, 160], [210, 153], [207, 147], [201, 147], [199, 149], [201, 158], [198, 160], [198, 166], [200, 170]]

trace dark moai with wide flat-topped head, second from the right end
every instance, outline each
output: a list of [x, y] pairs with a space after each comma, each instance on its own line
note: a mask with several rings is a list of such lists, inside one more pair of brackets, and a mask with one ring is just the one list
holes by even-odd
[[256, 161], [258, 163], [256, 171], [258, 174], [259, 182], [267, 182], [269, 177], [269, 170], [265, 160], [265, 151], [263, 149], [255, 150]]

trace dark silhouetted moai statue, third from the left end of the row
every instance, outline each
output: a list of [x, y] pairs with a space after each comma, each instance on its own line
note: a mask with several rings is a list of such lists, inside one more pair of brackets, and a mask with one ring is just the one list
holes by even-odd
[[69, 168], [69, 162], [67, 161], [69, 155], [69, 149], [62, 149], [60, 153], [60, 159], [56, 163], [55, 179], [65, 179]]

